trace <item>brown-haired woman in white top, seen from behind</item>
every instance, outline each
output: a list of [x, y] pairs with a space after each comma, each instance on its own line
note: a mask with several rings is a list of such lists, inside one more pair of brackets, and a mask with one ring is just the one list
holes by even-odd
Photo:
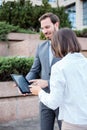
[[87, 59], [80, 52], [75, 33], [68, 28], [55, 32], [51, 46], [62, 60], [52, 67], [50, 94], [34, 85], [31, 92], [49, 108], [59, 107], [62, 130], [87, 130]]

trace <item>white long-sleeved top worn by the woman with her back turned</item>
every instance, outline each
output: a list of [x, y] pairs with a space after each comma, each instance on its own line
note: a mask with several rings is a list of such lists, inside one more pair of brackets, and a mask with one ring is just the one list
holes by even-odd
[[59, 119], [73, 124], [87, 124], [87, 58], [69, 53], [52, 67], [50, 94], [39, 92], [40, 101], [55, 110]]

